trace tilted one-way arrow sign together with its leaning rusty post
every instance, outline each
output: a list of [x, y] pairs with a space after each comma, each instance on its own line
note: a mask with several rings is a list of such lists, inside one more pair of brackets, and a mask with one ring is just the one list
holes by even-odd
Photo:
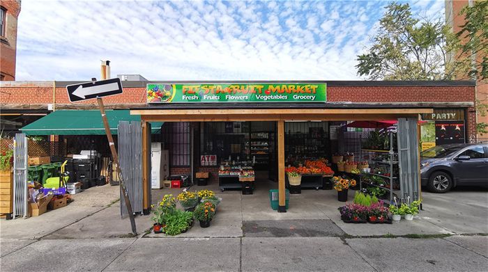
[[114, 163], [116, 163], [116, 173], [117, 177], [119, 177], [123, 199], [125, 200], [125, 207], [127, 207], [127, 211], [129, 213], [132, 234], [137, 235], [134, 213], [132, 212], [132, 205], [130, 204], [129, 195], [125, 188], [125, 182], [123, 181], [122, 171], [119, 163], [119, 155], [117, 154], [117, 150], [115, 149], [114, 138], [112, 137], [112, 132], [110, 131], [109, 121], [107, 120], [107, 115], [105, 114], [105, 106], [103, 106], [102, 101], [102, 97], [104, 96], [123, 93], [121, 80], [107, 79], [102, 81], [96, 81], [96, 79], [93, 79], [93, 81], [91, 82], [68, 85], [66, 86], [66, 90], [68, 90], [70, 102], [77, 102], [94, 98], [97, 99], [98, 106], [100, 106], [100, 113], [102, 113], [105, 134], [107, 134], [110, 151], [112, 152], [112, 158], [114, 160]]

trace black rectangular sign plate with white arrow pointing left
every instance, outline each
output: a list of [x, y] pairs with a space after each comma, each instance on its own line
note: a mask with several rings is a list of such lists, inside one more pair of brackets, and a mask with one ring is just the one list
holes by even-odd
[[72, 84], [66, 86], [66, 90], [68, 90], [70, 102], [116, 95], [123, 92], [120, 79]]

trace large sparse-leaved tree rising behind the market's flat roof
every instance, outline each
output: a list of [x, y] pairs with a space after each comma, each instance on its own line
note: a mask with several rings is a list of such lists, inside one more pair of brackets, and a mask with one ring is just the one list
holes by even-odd
[[442, 19], [413, 17], [408, 3], [389, 3], [367, 53], [358, 56], [358, 74], [371, 80], [448, 80], [466, 73], [470, 61], [450, 59], [459, 38]]

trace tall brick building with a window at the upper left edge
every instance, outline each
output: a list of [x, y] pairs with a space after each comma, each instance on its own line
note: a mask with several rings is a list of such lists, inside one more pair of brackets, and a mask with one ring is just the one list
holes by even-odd
[[0, 2], [1, 35], [0, 35], [0, 80], [15, 80], [15, 60], [17, 54], [17, 17], [20, 13], [20, 0]]

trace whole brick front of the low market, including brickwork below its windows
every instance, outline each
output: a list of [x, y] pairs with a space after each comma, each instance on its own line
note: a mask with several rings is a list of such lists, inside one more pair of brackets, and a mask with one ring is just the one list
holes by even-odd
[[[55, 109], [97, 109], [94, 100], [70, 103], [66, 85], [61, 81], [15, 81], [0, 83], [0, 107], [3, 112], [47, 111], [55, 103]], [[107, 109], [146, 108], [147, 81], [123, 81], [124, 93], [105, 97]], [[466, 142], [476, 141], [475, 82], [474, 81], [326, 81], [327, 103], [340, 104], [389, 104], [394, 108], [428, 107], [461, 109], [465, 116]], [[198, 141], [198, 140], [195, 140]], [[197, 143], [196, 143], [197, 145]], [[199, 156], [195, 156], [197, 158]], [[195, 159], [194, 158], [194, 159]], [[199, 162], [195, 161], [199, 166]], [[206, 170], [217, 179], [218, 168], [197, 167]], [[175, 166], [171, 175], [190, 173], [190, 168]]]

